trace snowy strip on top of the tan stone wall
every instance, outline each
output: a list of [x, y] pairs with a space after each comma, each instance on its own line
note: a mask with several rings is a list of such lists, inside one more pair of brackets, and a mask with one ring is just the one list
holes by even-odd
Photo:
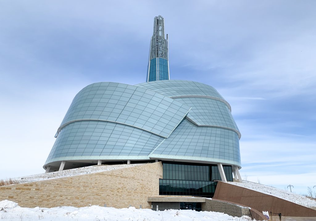
[[34, 181], [50, 180], [50, 179], [76, 176], [76, 175], [82, 175], [82, 174], [92, 174], [92, 173], [122, 169], [122, 168], [127, 168], [127, 167], [135, 167], [135, 166], [140, 166], [140, 165], [143, 165], [143, 163], [80, 167], [80, 168], [75, 168], [75, 169], [51, 172], [47, 174], [36, 174], [36, 175], [31, 175], [31, 176], [17, 177], [12, 180], [18, 183], [29, 183], [29, 182], [34, 182]]

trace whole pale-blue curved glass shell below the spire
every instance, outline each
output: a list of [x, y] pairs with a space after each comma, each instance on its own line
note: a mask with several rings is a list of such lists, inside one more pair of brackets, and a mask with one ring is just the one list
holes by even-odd
[[[193, 81], [88, 85], [72, 101], [45, 167], [55, 161], [90, 159], [172, 159], [240, 166], [240, 133], [229, 104], [220, 99], [214, 88]], [[215, 172], [210, 169], [209, 173]], [[192, 181], [202, 185], [203, 193], [200, 181], [212, 180]]]

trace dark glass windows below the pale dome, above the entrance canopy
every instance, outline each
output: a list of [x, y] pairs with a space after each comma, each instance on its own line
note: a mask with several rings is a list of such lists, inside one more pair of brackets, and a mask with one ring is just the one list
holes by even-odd
[[[159, 195], [213, 197], [221, 175], [217, 165], [162, 161], [163, 179]], [[225, 165], [227, 181], [233, 181], [232, 167]]]

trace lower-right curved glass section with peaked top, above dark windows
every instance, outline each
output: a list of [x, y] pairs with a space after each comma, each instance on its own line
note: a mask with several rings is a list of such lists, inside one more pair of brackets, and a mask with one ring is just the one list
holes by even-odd
[[[199, 127], [185, 119], [151, 156], [167, 159], [205, 159], [212, 162], [240, 162], [239, 137], [230, 129]], [[182, 158], [180, 158], [182, 156]]]

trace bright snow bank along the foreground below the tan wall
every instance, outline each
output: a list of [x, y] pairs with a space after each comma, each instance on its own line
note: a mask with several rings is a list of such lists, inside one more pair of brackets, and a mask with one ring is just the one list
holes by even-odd
[[89, 206], [54, 208], [25, 208], [17, 203], [3, 200], [0, 202], [1, 220], [43, 220], [43, 221], [249, 221], [248, 216], [232, 217], [221, 212], [196, 212], [192, 210], [153, 211], [135, 207], [115, 209], [113, 207]]

